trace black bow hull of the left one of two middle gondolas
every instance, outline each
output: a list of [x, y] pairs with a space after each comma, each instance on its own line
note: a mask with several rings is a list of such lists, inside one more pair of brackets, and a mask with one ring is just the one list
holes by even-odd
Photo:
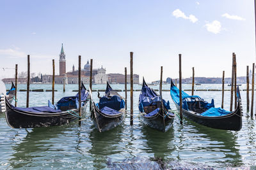
[[125, 111], [121, 112], [120, 115], [113, 117], [104, 115], [100, 110], [93, 104], [92, 120], [95, 127], [99, 132], [109, 131], [114, 129], [116, 126], [122, 124], [125, 118]]

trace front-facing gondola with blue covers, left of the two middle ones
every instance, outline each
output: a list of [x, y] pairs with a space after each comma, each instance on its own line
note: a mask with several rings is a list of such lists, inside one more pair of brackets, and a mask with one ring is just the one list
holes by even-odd
[[98, 131], [109, 131], [122, 124], [125, 118], [125, 101], [123, 97], [113, 90], [107, 82], [105, 94], [99, 98], [99, 103], [95, 104], [93, 102], [91, 115], [93, 124]]

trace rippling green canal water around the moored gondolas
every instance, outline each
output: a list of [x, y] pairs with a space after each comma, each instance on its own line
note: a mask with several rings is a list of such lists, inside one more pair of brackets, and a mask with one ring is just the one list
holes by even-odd
[[[78, 85], [56, 85], [57, 102], [63, 96], [76, 94]], [[88, 85], [86, 85], [88, 87]], [[124, 85], [112, 85], [124, 89]], [[9, 89], [10, 85], [6, 85]], [[105, 89], [106, 85], [93, 85]], [[140, 89], [134, 85], [134, 89]], [[158, 86], [154, 86], [158, 89]], [[229, 87], [225, 87], [228, 89]], [[240, 89], [244, 89], [245, 85]], [[19, 85], [18, 89], [26, 89]], [[51, 85], [31, 85], [31, 89], [51, 89]], [[170, 85], [163, 85], [170, 89]], [[184, 85], [183, 89], [191, 89]], [[221, 85], [201, 85], [196, 89], [221, 89]], [[189, 94], [191, 92], [188, 92]], [[103, 92], [100, 92], [102, 95]], [[120, 92], [124, 96], [124, 92]], [[129, 94], [129, 93], [128, 93]], [[205, 101], [213, 98], [216, 107], [221, 105], [221, 92], [195, 92]], [[87, 109], [81, 126], [78, 122], [59, 127], [12, 129], [0, 115], [0, 169], [180, 169], [180, 168], [256, 168], [255, 120], [246, 113], [246, 92], [241, 91], [244, 117], [241, 131], [222, 131], [195, 124], [184, 119], [179, 124], [175, 117], [168, 132], [158, 132], [145, 127], [138, 117], [138, 97], [134, 92], [134, 125], [129, 125], [129, 115], [124, 124], [108, 132], [98, 132]], [[18, 92], [18, 106], [26, 106], [26, 92]], [[175, 109], [170, 92], [163, 92]], [[51, 92], [30, 92], [29, 106], [44, 106]], [[97, 92], [93, 92], [97, 99]], [[128, 96], [129, 99], [129, 96]], [[230, 92], [225, 92], [225, 109], [230, 104]], [[127, 106], [130, 106], [129, 100]]]

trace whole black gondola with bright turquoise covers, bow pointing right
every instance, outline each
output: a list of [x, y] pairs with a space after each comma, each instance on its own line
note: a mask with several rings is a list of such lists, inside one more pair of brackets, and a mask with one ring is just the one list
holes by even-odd
[[[173, 103], [175, 103], [177, 110], [179, 110], [179, 89], [175, 87], [173, 81], [171, 82], [170, 92]], [[222, 108], [214, 108], [213, 99], [211, 103], [207, 103], [199, 96], [189, 96], [186, 92], [182, 91], [182, 114], [193, 122], [207, 127], [240, 131], [242, 128], [243, 109], [241, 106], [241, 96], [238, 86], [236, 93], [237, 107], [234, 111], [227, 111]]]

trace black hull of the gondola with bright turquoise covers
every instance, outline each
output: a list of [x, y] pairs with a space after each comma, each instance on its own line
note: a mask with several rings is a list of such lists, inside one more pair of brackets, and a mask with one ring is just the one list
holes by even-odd
[[[180, 110], [180, 106], [175, 103], [177, 110]], [[222, 117], [202, 117], [195, 115], [187, 110], [182, 109], [184, 117], [196, 122], [197, 124], [212, 127], [214, 129], [223, 129], [230, 131], [240, 131], [242, 128], [242, 115], [241, 115], [241, 103], [237, 103], [237, 108], [234, 112], [222, 116]]]

